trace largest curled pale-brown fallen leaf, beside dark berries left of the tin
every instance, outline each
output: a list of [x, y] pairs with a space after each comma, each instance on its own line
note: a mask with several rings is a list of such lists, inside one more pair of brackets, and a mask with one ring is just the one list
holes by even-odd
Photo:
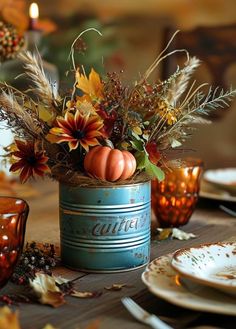
[[30, 280], [30, 286], [39, 297], [41, 304], [59, 307], [65, 303], [64, 295], [56, 285], [56, 280], [53, 276], [36, 273], [34, 280]]

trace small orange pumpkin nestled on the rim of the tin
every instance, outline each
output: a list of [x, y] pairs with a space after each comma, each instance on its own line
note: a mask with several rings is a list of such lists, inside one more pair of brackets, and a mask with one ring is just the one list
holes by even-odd
[[136, 160], [128, 151], [120, 151], [108, 146], [95, 146], [86, 154], [84, 168], [95, 178], [115, 182], [133, 175]]

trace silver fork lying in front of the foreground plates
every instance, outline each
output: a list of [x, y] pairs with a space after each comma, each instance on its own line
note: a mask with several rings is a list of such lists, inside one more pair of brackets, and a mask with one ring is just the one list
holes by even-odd
[[137, 320], [148, 324], [150, 327], [154, 329], [173, 329], [168, 324], [160, 320], [156, 315], [150, 314], [142, 309], [130, 297], [123, 297], [121, 302]]

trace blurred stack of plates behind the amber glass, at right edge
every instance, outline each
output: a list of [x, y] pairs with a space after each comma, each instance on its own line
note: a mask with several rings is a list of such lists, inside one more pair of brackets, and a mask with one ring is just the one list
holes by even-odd
[[200, 196], [236, 202], [236, 168], [206, 170], [201, 182]]

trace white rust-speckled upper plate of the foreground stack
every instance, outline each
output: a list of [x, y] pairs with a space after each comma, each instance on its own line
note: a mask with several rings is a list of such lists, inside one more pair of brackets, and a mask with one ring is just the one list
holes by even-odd
[[181, 276], [236, 295], [236, 242], [177, 250], [171, 265]]

